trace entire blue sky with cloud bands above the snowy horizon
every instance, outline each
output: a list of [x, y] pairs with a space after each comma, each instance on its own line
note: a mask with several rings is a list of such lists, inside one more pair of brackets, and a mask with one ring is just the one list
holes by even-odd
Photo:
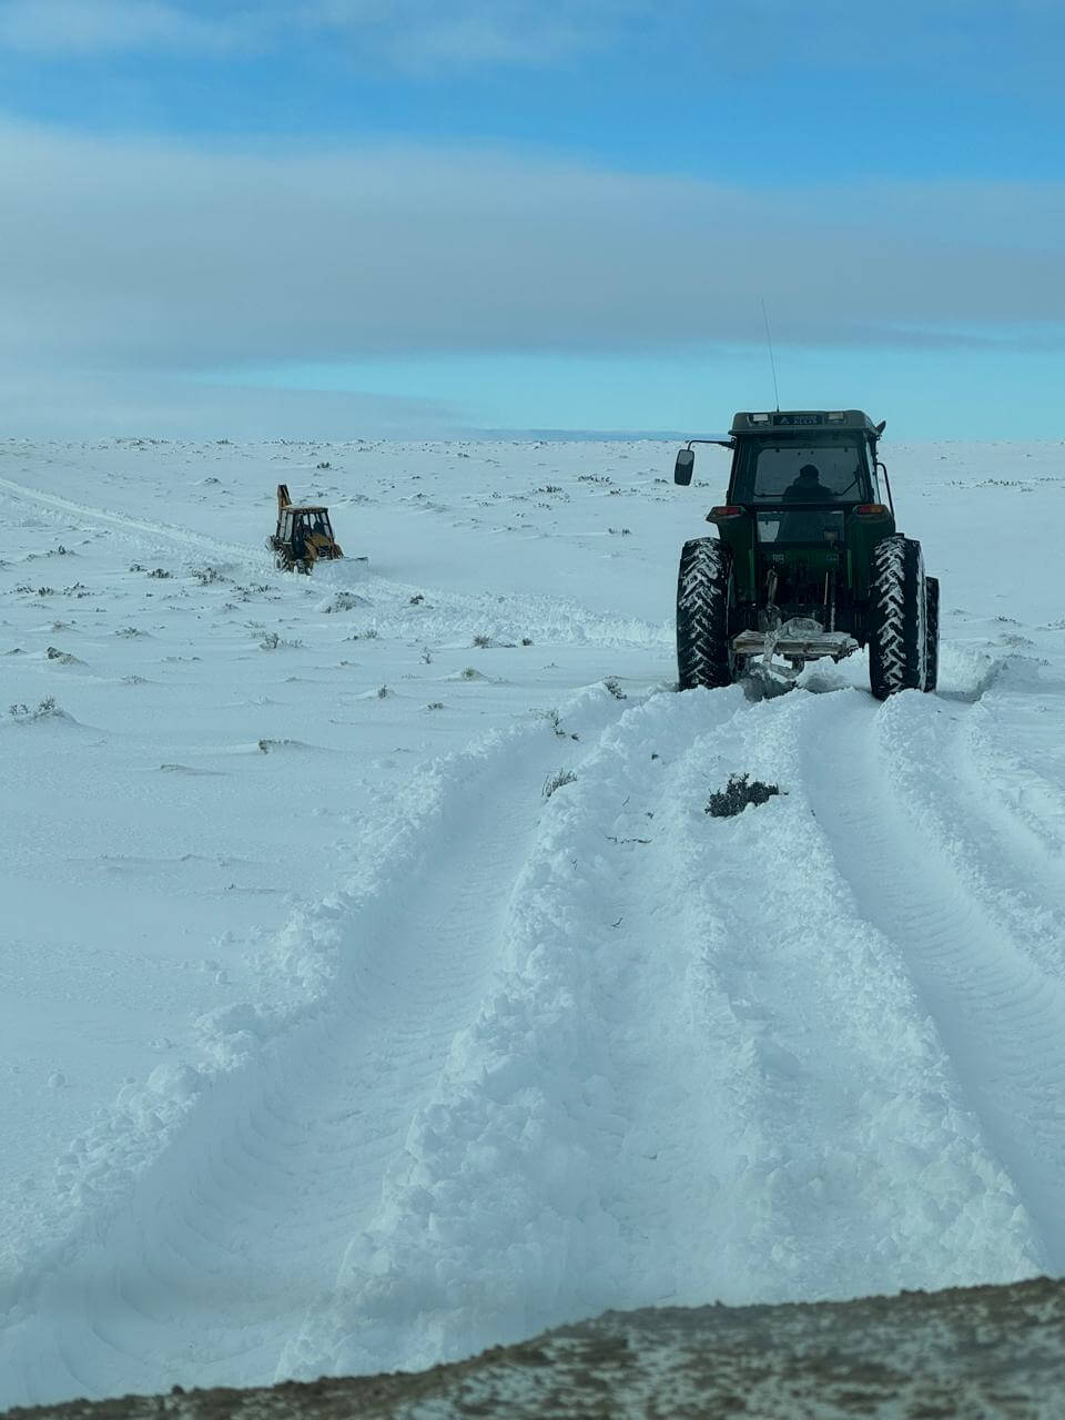
[[0, 0], [0, 417], [717, 427], [765, 300], [785, 405], [1059, 437], [1062, 50], [1058, 0]]

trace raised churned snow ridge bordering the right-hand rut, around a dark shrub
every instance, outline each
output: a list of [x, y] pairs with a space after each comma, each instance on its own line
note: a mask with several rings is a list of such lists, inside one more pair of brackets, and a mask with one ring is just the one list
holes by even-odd
[[[853, 690], [764, 701], [714, 737], [710, 764], [689, 757], [677, 794], [697, 785], [683, 896], [703, 937], [703, 1018], [731, 1042], [726, 1088], [743, 1122], [730, 1189], [754, 1265], [727, 1278], [728, 1301], [1038, 1269], [1031, 1224], [933, 1022], [811, 812], [804, 750], [831, 743], [825, 721], [848, 703], [873, 709]], [[737, 818], [703, 814], [700, 832], [707, 788], [731, 772], [782, 794]]]

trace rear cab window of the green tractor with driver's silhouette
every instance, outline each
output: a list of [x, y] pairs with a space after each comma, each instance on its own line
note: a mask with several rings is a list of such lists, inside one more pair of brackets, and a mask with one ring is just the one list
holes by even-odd
[[865, 443], [839, 435], [816, 444], [794, 439], [746, 439], [736, 454], [731, 503], [865, 503]]

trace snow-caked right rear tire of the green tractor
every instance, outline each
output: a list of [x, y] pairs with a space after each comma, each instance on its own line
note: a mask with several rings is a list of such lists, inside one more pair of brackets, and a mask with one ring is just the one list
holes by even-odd
[[899, 534], [878, 542], [869, 586], [869, 689], [878, 700], [924, 690], [926, 596], [920, 542]]

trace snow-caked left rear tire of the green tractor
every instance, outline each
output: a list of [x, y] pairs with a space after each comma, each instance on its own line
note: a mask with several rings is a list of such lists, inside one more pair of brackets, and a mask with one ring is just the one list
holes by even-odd
[[680, 690], [716, 690], [736, 680], [730, 613], [736, 601], [733, 554], [717, 538], [684, 542], [677, 574], [677, 679]]

